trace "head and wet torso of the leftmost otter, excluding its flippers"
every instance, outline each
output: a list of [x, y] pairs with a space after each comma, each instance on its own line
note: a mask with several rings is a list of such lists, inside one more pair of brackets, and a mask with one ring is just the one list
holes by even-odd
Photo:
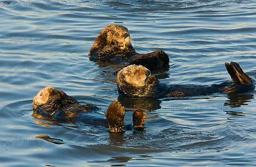
[[79, 105], [76, 99], [63, 91], [45, 87], [34, 97], [33, 110], [52, 120], [73, 122], [80, 113], [99, 108], [95, 105]]

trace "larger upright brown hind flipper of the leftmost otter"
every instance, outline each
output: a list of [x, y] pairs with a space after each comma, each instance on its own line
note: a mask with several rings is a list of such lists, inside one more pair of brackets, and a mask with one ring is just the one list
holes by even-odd
[[113, 101], [106, 112], [109, 132], [123, 132], [125, 108], [118, 101]]

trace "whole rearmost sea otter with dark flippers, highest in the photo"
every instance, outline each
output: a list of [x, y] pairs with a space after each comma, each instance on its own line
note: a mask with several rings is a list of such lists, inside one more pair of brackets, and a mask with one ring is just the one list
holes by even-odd
[[169, 57], [164, 51], [138, 54], [131, 44], [129, 31], [122, 25], [108, 25], [96, 37], [89, 51], [90, 60], [119, 62], [125, 65], [144, 65], [153, 70], [168, 67]]

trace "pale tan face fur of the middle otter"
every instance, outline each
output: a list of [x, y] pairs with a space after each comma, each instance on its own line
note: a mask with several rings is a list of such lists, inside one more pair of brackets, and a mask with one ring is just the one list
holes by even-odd
[[142, 65], [128, 65], [118, 72], [117, 78], [122, 77], [130, 85], [141, 87], [145, 86], [146, 78], [150, 75], [148, 68]]

